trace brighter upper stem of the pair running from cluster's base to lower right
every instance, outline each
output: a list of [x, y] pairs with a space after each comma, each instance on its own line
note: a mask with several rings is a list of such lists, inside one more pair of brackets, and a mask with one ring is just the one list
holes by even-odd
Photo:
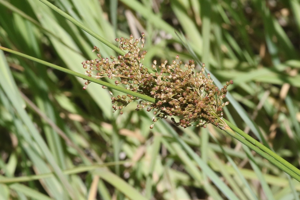
[[[267, 154], [269, 154], [271, 157], [273, 157], [275, 160], [279, 161], [280, 163], [282, 163], [285, 167], [289, 168], [290, 170], [292, 170], [295, 174], [297, 174], [298, 177], [300, 177], [300, 170], [297, 169], [295, 166], [293, 166], [291, 163], [287, 162], [286, 160], [284, 160], [282, 157], [278, 156], [276, 153], [274, 153], [273, 151], [271, 151], [270, 149], [268, 149], [266, 146], [262, 145], [260, 142], [258, 142], [257, 140], [255, 140], [254, 138], [252, 138], [251, 136], [249, 136], [248, 134], [246, 134], [244, 131], [242, 131], [241, 129], [237, 128], [235, 125], [233, 125], [232, 123], [230, 123], [229, 121], [227, 121], [226, 119], [223, 119], [227, 125], [236, 133], [238, 133], [239, 135], [241, 135], [242, 137], [244, 137], [246, 140], [248, 140], [251, 144], [257, 146], [259, 149], [263, 150], [264, 152], [266, 152]], [[224, 130], [226, 131], [226, 130]], [[226, 131], [227, 132], [227, 131]], [[252, 148], [251, 148], [252, 149]], [[298, 180], [298, 179], [297, 179]], [[298, 180], [299, 181], [299, 180]], [[299, 181], [300, 182], [300, 181]]]

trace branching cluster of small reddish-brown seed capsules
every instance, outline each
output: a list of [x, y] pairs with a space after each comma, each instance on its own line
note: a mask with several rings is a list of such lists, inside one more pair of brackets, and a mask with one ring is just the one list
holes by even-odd
[[[172, 122], [184, 128], [195, 125], [194, 122], [200, 127], [206, 127], [207, 123], [222, 127], [222, 108], [229, 102], [221, 101], [226, 96], [227, 86], [233, 84], [233, 81], [226, 82], [226, 85], [219, 90], [212, 83], [210, 74], [205, 77], [204, 63], [200, 72], [195, 72], [193, 60], [185, 64], [182, 69], [179, 56], [176, 56], [176, 60], [173, 60], [170, 65], [167, 65], [166, 60], [158, 67], [157, 61], [154, 60], [152, 64], [154, 71], [149, 70], [142, 63], [147, 53], [147, 51], [141, 52], [144, 37], [145, 34], [142, 33], [142, 38], [135, 41], [132, 35], [130, 39], [117, 38], [116, 41], [120, 42], [119, 48], [128, 53], [117, 58], [110, 56], [112, 61], [102, 58], [98, 53], [99, 59], [82, 62], [83, 68], [86, 69], [85, 74], [97, 79], [108, 77], [115, 80], [116, 85], [124, 84], [128, 90], [155, 98], [156, 103], [139, 100], [136, 108], [140, 110], [147, 107], [148, 112], [154, 110], [153, 122], [159, 118], [179, 116], [179, 122], [171, 118]], [[141, 47], [139, 47], [140, 42]], [[94, 46], [93, 51], [99, 51], [99, 48]], [[90, 81], [87, 81], [85, 85], [89, 83]], [[83, 87], [84, 90], [86, 86]], [[123, 107], [139, 98], [127, 94], [127, 96], [113, 96], [111, 99], [114, 104], [113, 112], [120, 110], [122, 114]], [[153, 128], [153, 125], [150, 128]]]

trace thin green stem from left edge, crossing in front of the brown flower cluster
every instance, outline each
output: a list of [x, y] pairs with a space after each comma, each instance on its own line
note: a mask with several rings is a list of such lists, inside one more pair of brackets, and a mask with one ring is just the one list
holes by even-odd
[[100, 85], [109, 87], [109, 88], [114, 89], [114, 90], [118, 90], [118, 91], [123, 92], [123, 93], [126, 93], [126, 94], [130, 94], [130, 95], [135, 96], [135, 97], [138, 97], [138, 98], [140, 98], [140, 99], [144, 99], [145, 101], [149, 101], [149, 102], [151, 102], [151, 103], [155, 103], [155, 102], [156, 102], [155, 99], [152, 98], [152, 97], [149, 97], [149, 96], [146, 96], [146, 95], [137, 93], [137, 92], [133, 92], [133, 91], [131, 91], [131, 90], [127, 90], [127, 89], [125, 89], [125, 88], [122, 88], [122, 87], [119, 87], [119, 86], [116, 86], [116, 85], [107, 83], [107, 82], [105, 82], [105, 81], [101, 81], [101, 80], [96, 79], [96, 78], [89, 77], [89, 76], [84, 75], [84, 74], [80, 74], [80, 73], [78, 73], [78, 72], [74, 72], [74, 71], [72, 71], [72, 70], [70, 70], [70, 69], [66, 69], [66, 68], [57, 66], [57, 65], [55, 65], [55, 64], [48, 63], [48, 62], [46, 62], [46, 61], [44, 61], [44, 60], [40, 60], [40, 59], [38, 59], [38, 58], [29, 56], [29, 55], [26, 55], [26, 54], [22, 54], [22, 53], [20, 53], [20, 52], [18, 52], [18, 51], [13, 51], [13, 50], [11, 50], [11, 49], [7, 49], [7, 48], [2, 47], [2, 46], [0, 46], [0, 49], [3, 50], [3, 51], [7, 51], [7, 52], [9, 52], [9, 53], [13, 53], [13, 54], [16, 54], [16, 55], [25, 57], [25, 58], [27, 58], [27, 59], [29, 59], [29, 60], [32, 60], [32, 61], [35, 61], [35, 62], [37, 62], [37, 63], [41, 63], [41, 64], [43, 64], [43, 65], [52, 67], [52, 68], [57, 69], [57, 70], [59, 70], [59, 71], [65, 72], [65, 73], [67, 73], [67, 74], [74, 75], [74, 76], [77, 76], [77, 77], [79, 77], [79, 78], [86, 79], [86, 80], [88, 80], [88, 81], [91, 81], [91, 82], [94, 82], [94, 83], [97, 83], [97, 84], [100, 84]]

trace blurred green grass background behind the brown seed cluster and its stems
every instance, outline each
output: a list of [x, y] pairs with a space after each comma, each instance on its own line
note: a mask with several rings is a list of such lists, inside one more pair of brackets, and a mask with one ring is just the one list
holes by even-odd
[[[299, 168], [298, 0], [49, 2], [116, 45], [145, 32], [147, 66], [179, 55], [232, 79], [224, 117]], [[93, 46], [117, 55], [38, 0], [0, 0], [0, 43], [81, 73]], [[112, 113], [109, 90], [83, 83], [0, 52], [0, 199], [299, 199], [297, 181], [219, 129], [151, 130], [152, 113]]]

